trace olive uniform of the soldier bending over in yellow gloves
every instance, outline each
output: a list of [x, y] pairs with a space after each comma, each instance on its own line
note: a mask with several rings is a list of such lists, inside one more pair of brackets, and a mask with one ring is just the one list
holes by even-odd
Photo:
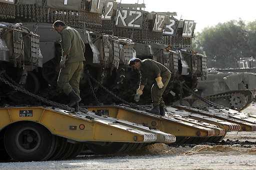
[[[162, 77], [163, 87], [159, 88], [155, 82], [157, 74]], [[171, 72], [161, 63], [152, 59], [144, 59], [140, 66], [140, 85], [145, 85], [147, 81], [154, 82], [151, 87], [151, 98], [153, 106], [164, 106], [162, 94], [170, 80]]]

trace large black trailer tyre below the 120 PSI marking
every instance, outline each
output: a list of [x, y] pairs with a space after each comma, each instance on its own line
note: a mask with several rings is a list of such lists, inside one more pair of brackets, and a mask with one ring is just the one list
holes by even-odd
[[55, 136], [45, 127], [24, 122], [10, 126], [4, 133], [7, 153], [18, 161], [42, 161], [49, 158], [55, 144]]

